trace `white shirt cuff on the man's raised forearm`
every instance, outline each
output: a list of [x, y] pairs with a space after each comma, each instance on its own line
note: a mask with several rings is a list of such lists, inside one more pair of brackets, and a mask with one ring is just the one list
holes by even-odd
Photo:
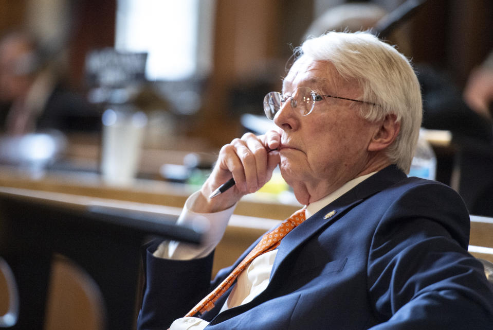
[[195, 192], [187, 199], [176, 223], [202, 229], [205, 232], [202, 244], [196, 246], [183, 242], [166, 240], [161, 242], [157, 250], [153, 253], [155, 257], [175, 260], [202, 258], [209, 255], [217, 244], [219, 244], [226, 231], [229, 218], [231, 218], [236, 204], [229, 209], [220, 212], [192, 212], [190, 211], [190, 207], [198, 194], [200, 193]]

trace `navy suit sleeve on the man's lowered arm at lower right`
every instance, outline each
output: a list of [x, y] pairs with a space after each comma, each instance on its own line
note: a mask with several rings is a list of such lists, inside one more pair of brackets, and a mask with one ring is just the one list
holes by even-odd
[[493, 329], [493, 290], [464, 251], [470, 223], [462, 200], [440, 184], [405, 195], [373, 236], [368, 285], [382, 323], [371, 329]]

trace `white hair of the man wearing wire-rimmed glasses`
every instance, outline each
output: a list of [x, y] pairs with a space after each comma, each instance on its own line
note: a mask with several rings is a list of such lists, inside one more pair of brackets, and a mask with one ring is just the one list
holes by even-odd
[[387, 157], [408, 173], [423, 117], [421, 90], [409, 60], [368, 32], [328, 32], [306, 40], [295, 55], [331, 62], [343, 78], [356, 80], [361, 99], [374, 103], [361, 107], [363, 118], [397, 117], [400, 131]]

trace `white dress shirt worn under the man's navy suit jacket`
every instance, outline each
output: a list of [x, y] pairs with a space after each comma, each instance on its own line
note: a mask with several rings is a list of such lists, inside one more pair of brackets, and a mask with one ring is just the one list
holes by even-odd
[[[364, 175], [346, 182], [342, 187], [324, 198], [306, 205], [306, 218], [311, 217], [320, 211], [325, 205], [333, 202], [360, 182], [366, 180], [376, 172]], [[154, 252], [155, 257], [170, 259], [193, 259], [205, 257], [214, 250], [226, 230], [229, 218], [233, 214], [234, 207], [217, 213], [194, 213], [190, 211], [190, 205], [197, 197], [197, 193], [192, 194], [185, 202], [183, 211], [178, 218], [177, 223], [201, 225], [207, 223], [210, 225], [204, 243], [199, 247], [187, 245], [180, 242], [164, 241]], [[253, 300], [258, 294], [265, 290], [269, 284], [270, 272], [276, 258], [277, 249], [264, 253], [253, 260], [253, 262], [238, 276], [236, 284], [233, 286], [231, 293], [221, 308], [221, 312], [236, 306], [246, 304]], [[199, 318], [187, 317], [175, 320], [170, 330], [202, 330], [209, 323]]]

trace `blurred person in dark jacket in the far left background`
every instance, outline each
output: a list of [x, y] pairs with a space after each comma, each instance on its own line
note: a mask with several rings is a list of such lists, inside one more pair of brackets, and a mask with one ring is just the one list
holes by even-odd
[[9, 136], [44, 130], [97, 131], [98, 111], [63, 82], [63, 61], [29, 33], [0, 40], [0, 130]]

